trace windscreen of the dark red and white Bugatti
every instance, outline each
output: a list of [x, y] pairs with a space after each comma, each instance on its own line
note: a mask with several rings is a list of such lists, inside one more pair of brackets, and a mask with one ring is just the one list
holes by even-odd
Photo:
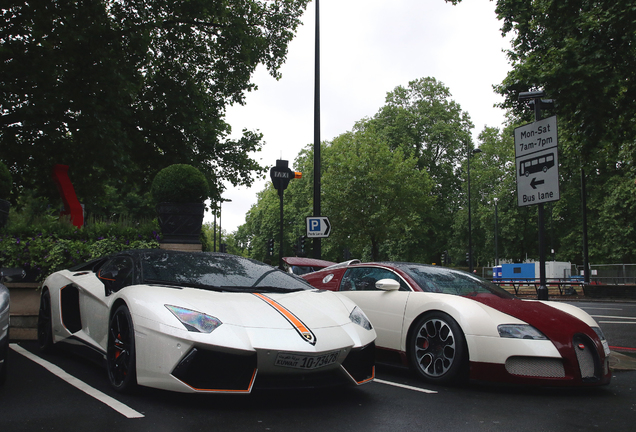
[[502, 298], [514, 297], [503, 288], [470, 273], [418, 264], [401, 264], [399, 267], [413, 278], [423, 291], [460, 296], [494, 294]]

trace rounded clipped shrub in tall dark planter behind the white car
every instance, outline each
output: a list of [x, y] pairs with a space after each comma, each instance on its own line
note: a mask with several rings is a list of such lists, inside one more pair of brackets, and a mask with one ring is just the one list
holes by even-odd
[[170, 165], [157, 173], [150, 189], [163, 243], [200, 243], [204, 201], [210, 193], [205, 176], [191, 165]]

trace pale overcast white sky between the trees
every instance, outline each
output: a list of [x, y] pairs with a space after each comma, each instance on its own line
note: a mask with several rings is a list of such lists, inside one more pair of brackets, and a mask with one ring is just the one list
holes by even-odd
[[[259, 66], [252, 78], [258, 89], [226, 113], [233, 137], [244, 128], [263, 134], [263, 148], [253, 158], [267, 167], [284, 159], [293, 170], [300, 150], [314, 140], [315, 2], [302, 22], [280, 69], [282, 78], [277, 81]], [[504, 123], [504, 111], [494, 107], [502, 98], [493, 90], [510, 70], [504, 52], [510, 44], [500, 28], [490, 0], [456, 6], [444, 0], [321, 0], [321, 140], [373, 117], [395, 87], [430, 76], [470, 115], [477, 143], [485, 126]], [[222, 205], [223, 231], [245, 223], [269, 181], [268, 170], [250, 188], [227, 183], [223, 199], [231, 201]], [[212, 220], [207, 212], [204, 222]]]

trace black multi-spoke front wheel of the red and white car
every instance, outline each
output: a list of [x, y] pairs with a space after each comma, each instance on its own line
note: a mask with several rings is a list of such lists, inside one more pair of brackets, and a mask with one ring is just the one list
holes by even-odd
[[468, 349], [459, 324], [442, 312], [423, 315], [410, 338], [410, 363], [420, 377], [439, 384], [468, 377]]

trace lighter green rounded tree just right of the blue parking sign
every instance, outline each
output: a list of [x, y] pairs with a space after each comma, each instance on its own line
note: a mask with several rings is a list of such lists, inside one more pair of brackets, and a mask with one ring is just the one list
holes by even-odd
[[[324, 213], [334, 227], [332, 245], [376, 261], [390, 257], [392, 241], [427, 237], [435, 198], [418, 158], [399, 147], [392, 150], [374, 122], [336, 137], [327, 153]], [[430, 251], [419, 255], [430, 256]], [[404, 259], [404, 251], [393, 258]]]

